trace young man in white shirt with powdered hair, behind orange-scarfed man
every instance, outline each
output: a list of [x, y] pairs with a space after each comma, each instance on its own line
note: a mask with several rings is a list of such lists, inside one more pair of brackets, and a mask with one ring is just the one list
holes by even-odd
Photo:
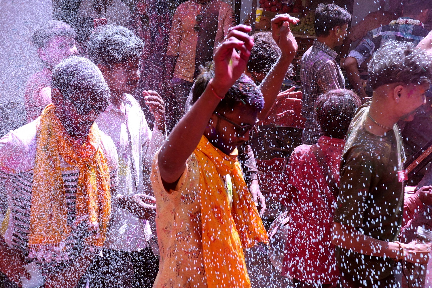
[[147, 186], [149, 168], [165, 140], [164, 103], [156, 92], [143, 92], [156, 119], [152, 132], [140, 104], [128, 94], [140, 79], [143, 47], [129, 29], [111, 25], [96, 28], [87, 47], [111, 90], [110, 104], [97, 123], [111, 136], [119, 156], [118, 197], [113, 197], [104, 255], [93, 266], [92, 276], [99, 279], [100, 287], [151, 287], [159, 266], [150, 247], [149, 222], [155, 225], [155, 203], [145, 194], [152, 195]]

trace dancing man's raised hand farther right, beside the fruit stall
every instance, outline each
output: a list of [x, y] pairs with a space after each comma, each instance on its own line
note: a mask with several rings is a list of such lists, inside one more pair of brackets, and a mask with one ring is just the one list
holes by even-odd
[[297, 24], [300, 19], [291, 17], [288, 14], [280, 14], [271, 20], [271, 34], [277, 46], [281, 51], [281, 57], [289, 60], [291, 63], [292, 58], [297, 53], [298, 45], [292, 35], [289, 24]]

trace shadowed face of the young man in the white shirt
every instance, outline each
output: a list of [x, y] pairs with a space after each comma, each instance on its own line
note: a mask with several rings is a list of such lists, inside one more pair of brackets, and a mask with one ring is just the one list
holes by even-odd
[[140, 60], [134, 58], [124, 63], [112, 64], [105, 71], [104, 79], [111, 92], [131, 93], [140, 80]]

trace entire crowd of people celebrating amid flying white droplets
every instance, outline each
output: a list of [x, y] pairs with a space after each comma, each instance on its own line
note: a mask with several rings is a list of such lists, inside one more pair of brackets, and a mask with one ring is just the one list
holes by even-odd
[[431, 287], [432, 238], [413, 232], [432, 227], [431, 169], [404, 194], [407, 157], [432, 139], [431, 7], [405, 0], [341, 64], [351, 15], [320, 3], [297, 91], [281, 88], [298, 50], [288, 14], [251, 34], [228, 4], [187, 0], [149, 31], [162, 14], [138, 1], [128, 28], [95, 22], [79, 45], [66, 22], [42, 23], [28, 123], [0, 139], [0, 286], [254, 287], [246, 251], [272, 245], [259, 130], [285, 126], [295, 139], [267, 195], [289, 210], [280, 274], [295, 288]]

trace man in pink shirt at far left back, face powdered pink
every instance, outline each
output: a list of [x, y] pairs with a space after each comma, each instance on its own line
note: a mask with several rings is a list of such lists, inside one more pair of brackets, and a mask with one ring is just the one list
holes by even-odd
[[75, 37], [73, 28], [56, 20], [39, 25], [33, 33], [32, 41], [36, 53], [45, 67], [30, 77], [25, 88], [27, 123], [38, 118], [42, 110], [51, 103], [52, 71], [61, 60], [78, 52]]

